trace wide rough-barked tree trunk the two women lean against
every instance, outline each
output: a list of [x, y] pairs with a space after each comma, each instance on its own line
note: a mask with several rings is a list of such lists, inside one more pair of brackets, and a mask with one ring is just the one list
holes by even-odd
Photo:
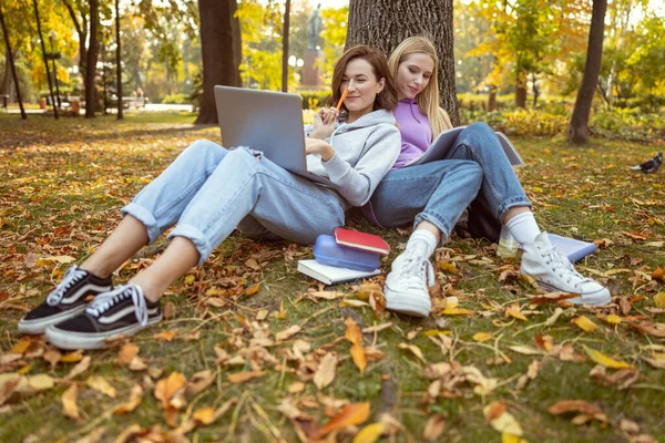
[[386, 54], [407, 37], [429, 35], [439, 53], [440, 105], [459, 125], [452, 0], [350, 0], [348, 22], [346, 48], [365, 43]]

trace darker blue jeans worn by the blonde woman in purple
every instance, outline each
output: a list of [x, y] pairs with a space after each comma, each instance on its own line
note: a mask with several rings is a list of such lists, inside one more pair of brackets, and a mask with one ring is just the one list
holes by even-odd
[[489, 225], [497, 238], [511, 207], [531, 206], [497, 135], [484, 123], [464, 128], [446, 159], [389, 172], [364, 214], [383, 227], [427, 220], [449, 237], [469, 205], [469, 224]]

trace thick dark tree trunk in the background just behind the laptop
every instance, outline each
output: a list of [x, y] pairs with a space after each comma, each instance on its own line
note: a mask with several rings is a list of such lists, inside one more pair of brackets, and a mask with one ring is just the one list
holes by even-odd
[[241, 25], [234, 18], [237, 0], [198, 0], [203, 97], [195, 123], [217, 123], [215, 85], [241, 86]]

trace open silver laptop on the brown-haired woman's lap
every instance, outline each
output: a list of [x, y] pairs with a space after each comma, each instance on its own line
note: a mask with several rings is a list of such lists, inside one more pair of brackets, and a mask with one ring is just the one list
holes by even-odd
[[303, 97], [284, 92], [215, 86], [222, 144], [260, 151], [275, 164], [313, 182], [332, 185], [307, 171]]

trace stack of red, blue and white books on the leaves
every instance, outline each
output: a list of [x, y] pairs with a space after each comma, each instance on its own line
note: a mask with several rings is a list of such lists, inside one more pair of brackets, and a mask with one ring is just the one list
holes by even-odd
[[381, 274], [380, 256], [389, 253], [390, 246], [377, 235], [335, 228], [335, 236], [318, 236], [315, 259], [298, 260], [298, 271], [326, 285], [336, 285]]

